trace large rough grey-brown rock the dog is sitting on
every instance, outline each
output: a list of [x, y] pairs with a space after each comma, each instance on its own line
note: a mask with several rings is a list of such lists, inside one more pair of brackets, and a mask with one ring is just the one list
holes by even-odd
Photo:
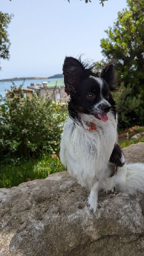
[[[144, 162], [144, 143], [124, 154]], [[67, 172], [0, 189], [0, 255], [143, 256], [143, 195], [99, 193], [95, 214], [87, 196]]]

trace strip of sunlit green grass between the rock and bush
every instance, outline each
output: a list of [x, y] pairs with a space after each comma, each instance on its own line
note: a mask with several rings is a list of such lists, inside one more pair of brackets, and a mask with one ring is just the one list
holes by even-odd
[[58, 157], [43, 154], [38, 159], [13, 159], [0, 165], [0, 188], [12, 188], [22, 182], [45, 179], [49, 174], [63, 172], [65, 168]]

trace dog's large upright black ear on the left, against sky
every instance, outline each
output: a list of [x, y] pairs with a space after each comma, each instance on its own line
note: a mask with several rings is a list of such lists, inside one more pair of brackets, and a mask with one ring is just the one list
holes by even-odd
[[65, 92], [67, 95], [75, 94], [79, 83], [86, 76], [84, 65], [75, 58], [66, 57], [63, 63]]

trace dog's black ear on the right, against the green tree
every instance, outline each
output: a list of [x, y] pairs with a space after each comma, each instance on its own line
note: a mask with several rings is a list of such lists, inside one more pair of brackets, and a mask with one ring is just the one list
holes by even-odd
[[106, 83], [109, 85], [109, 89], [111, 91], [115, 90], [113, 88], [113, 84], [115, 83], [115, 70], [114, 70], [114, 65], [113, 61], [110, 61], [105, 68], [102, 69], [101, 75], [100, 75]]

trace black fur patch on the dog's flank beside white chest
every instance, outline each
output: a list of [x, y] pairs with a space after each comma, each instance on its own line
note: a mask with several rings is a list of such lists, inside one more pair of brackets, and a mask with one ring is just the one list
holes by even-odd
[[117, 143], [115, 144], [113, 152], [111, 153], [109, 164], [111, 164], [110, 177], [116, 174], [116, 172], [118, 171], [118, 167], [122, 167], [125, 164], [125, 162], [122, 162], [122, 150]]

